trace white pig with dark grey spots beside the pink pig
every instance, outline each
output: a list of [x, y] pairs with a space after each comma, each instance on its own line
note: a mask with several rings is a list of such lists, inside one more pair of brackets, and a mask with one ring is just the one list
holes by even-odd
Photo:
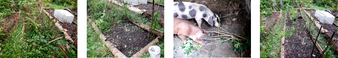
[[206, 20], [211, 26], [215, 24], [219, 27], [217, 14], [202, 4], [191, 2], [174, 2], [174, 17], [180, 19], [195, 19], [198, 27], [201, 27], [202, 19]]

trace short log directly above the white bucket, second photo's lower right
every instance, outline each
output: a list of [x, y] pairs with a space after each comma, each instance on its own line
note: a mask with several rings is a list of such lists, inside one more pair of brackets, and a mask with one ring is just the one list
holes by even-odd
[[145, 46], [144, 48], [142, 48], [139, 52], [135, 53], [134, 55], [132, 55], [130, 58], [139, 58], [141, 56], [143, 56], [144, 53], [148, 53], [148, 48], [150, 46], [152, 46], [155, 42], [159, 42], [159, 39], [161, 38], [160, 36], [157, 36], [156, 39], [152, 40], [150, 43], [148, 43], [147, 46]]

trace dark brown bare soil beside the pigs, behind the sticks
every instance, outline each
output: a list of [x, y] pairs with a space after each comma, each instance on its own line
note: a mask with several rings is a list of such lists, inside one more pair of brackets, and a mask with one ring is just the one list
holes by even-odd
[[[245, 10], [245, 1], [244, 0], [174, 0], [174, 2], [197, 2], [197, 4], [203, 4], [207, 6], [213, 13], [216, 13], [219, 17], [227, 16], [233, 13], [238, 12], [238, 15], [230, 15], [227, 17], [220, 18], [220, 27], [224, 28], [227, 31], [231, 31], [230, 33], [241, 34], [242, 37], [250, 38], [251, 37], [251, 16], [250, 13], [247, 13]], [[237, 19], [237, 20], [233, 20]], [[195, 19], [188, 19], [188, 21], [196, 24]], [[202, 20], [201, 28], [206, 31], [218, 31], [218, 28], [215, 26], [211, 26], [207, 23], [207, 21]], [[240, 30], [239, 30], [240, 29]], [[233, 32], [232, 32], [233, 31]], [[208, 36], [216, 36], [217, 34], [208, 34]], [[237, 37], [240, 38], [240, 37]], [[206, 43], [206, 40], [204, 40]], [[241, 41], [244, 42], [244, 41]], [[231, 44], [227, 44], [231, 45]], [[208, 46], [209, 47], [209, 46]], [[207, 47], [207, 48], [208, 48]], [[211, 47], [209, 47], [211, 48]], [[213, 48], [220, 49], [220, 48]], [[222, 48], [227, 49], [227, 48]], [[241, 53], [237, 53], [237, 57], [251, 57], [251, 48], [246, 48], [244, 50], [245, 53], [243, 55]], [[199, 52], [197, 52], [199, 53]], [[217, 56], [219, 57], [219, 56]]]

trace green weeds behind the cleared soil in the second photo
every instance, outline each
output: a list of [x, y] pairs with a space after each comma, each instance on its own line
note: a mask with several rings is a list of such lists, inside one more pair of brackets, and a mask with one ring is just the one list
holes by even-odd
[[[128, 22], [125, 18], [127, 15], [128, 19], [132, 19], [138, 23], [144, 24], [146, 26], [151, 25], [151, 20], [145, 18], [144, 15], [130, 11], [127, 8], [115, 5], [107, 4], [106, 1], [89, 1], [89, 6], [87, 6], [89, 15], [91, 18], [94, 18], [93, 21], [97, 23], [98, 28], [103, 32], [108, 32], [112, 26], [120, 26], [122, 23]], [[125, 13], [127, 10], [127, 14]], [[116, 24], [118, 23], [118, 24]], [[156, 23], [154, 21], [154, 23]], [[156, 28], [157, 30], [164, 31], [163, 27]]]

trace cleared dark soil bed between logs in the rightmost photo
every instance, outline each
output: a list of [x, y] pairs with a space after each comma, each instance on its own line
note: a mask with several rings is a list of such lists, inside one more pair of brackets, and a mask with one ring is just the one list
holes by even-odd
[[[285, 54], [287, 58], [311, 57], [313, 43], [309, 31], [305, 27], [304, 19], [287, 20], [286, 31], [293, 32], [292, 35], [285, 36]], [[294, 27], [295, 29], [293, 29]], [[294, 31], [291, 31], [291, 30]], [[313, 55], [318, 56], [319, 52], [315, 48]], [[316, 57], [315, 57], [316, 58]]]

